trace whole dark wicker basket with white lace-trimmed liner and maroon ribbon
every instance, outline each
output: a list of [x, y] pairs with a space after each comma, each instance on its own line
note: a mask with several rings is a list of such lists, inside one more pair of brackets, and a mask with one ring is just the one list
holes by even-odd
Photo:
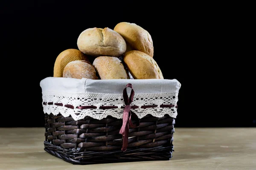
[[177, 80], [47, 78], [41, 87], [44, 150], [51, 155], [72, 164], [172, 158]]

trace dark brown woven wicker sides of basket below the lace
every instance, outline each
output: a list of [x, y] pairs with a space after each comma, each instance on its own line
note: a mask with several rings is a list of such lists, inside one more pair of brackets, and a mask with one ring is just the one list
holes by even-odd
[[72, 164], [170, 160], [174, 124], [169, 115], [143, 117], [139, 127], [129, 127], [128, 147], [123, 152], [122, 119], [86, 116], [75, 121], [71, 116], [45, 114], [44, 150]]

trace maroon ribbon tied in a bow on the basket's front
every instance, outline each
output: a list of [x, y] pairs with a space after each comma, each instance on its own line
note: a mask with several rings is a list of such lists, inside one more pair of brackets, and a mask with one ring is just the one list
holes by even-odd
[[[128, 97], [126, 88], [131, 88], [131, 94], [130, 97]], [[119, 131], [119, 134], [123, 136], [123, 144], [122, 144], [122, 151], [125, 152], [128, 146], [128, 136], [129, 136], [129, 126], [131, 128], [136, 128], [140, 126], [140, 120], [138, 116], [131, 111], [131, 102], [133, 101], [134, 97], [134, 90], [132, 88], [132, 85], [128, 83], [123, 91], [123, 97], [124, 97], [124, 102], [125, 102], [125, 109], [123, 113], [123, 124], [122, 127]], [[135, 125], [132, 123], [132, 119], [135, 120]]]

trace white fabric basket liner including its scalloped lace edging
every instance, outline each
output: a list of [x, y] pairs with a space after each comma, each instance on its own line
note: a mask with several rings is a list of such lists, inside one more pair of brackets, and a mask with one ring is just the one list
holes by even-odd
[[[113, 116], [122, 119], [125, 102], [123, 90], [128, 83], [134, 89], [134, 100], [131, 110], [139, 119], [150, 114], [155, 117], [163, 117], [168, 114], [176, 118], [178, 92], [180, 82], [177, 79], [73, 79], [62, 77], [47, 77], [40, 82], [42, 88], [42, 105], [44, 113], [64, 117], [72, 116], [74, 120], [90, 116], [93, 119], [103, 119]], [[131, 88], [127, 88], [128, 96]], [[57, 104], [62, 105], [57, 105]], [[73, 108], [66, 107], [67, 105]], [[152, 108], [141, 106], [157, 105]], [[174, 105], [174, 107], [162, 107]], [[96, 106], [90, 109], [80, 109], [79, 106]], [[102, 109], [100, 106], [116, 106], [117, 108]]]

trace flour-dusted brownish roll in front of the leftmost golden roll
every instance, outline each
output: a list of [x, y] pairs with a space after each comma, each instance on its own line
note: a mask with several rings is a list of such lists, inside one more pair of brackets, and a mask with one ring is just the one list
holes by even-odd
[[93, 65], [91, 65], [90, 62], [84, 60], [69, 62], [64, 68], [63, 77], [75, 79], [98, 79]]

